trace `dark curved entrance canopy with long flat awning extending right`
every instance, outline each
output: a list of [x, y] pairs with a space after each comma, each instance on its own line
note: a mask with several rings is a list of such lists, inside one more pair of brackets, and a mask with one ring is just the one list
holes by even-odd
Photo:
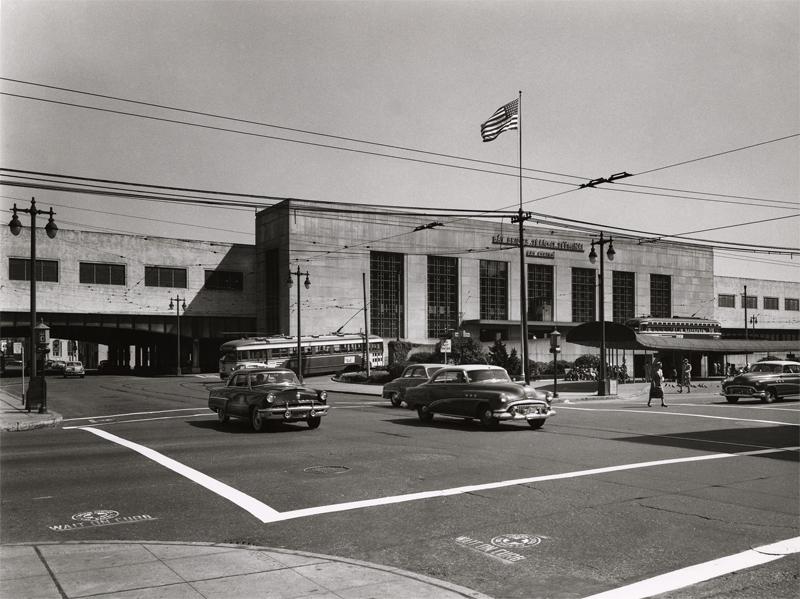
[[[587, 322], [567, 333], [567, 341], [589, 347], [600, 347], [601, 323]], [[609, 349], [644, 349], [650, 351], [682, 350], [749, 354], [756, 352], [800, 352], [798, 341], [764, 339], [686, 339], [664, 335], [637, 333], [625, 325], [606, 322], [606, 347]]]

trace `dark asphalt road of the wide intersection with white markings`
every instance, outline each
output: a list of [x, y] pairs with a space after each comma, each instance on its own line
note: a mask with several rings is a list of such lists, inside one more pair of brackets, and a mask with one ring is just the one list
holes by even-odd
[[[663, 591], [689, 567], [800, 535], [796, 401], [585, 401], [557, 404], [538, 431], [485, 431], [333, 393], [319, 429], [258, 434], [217, 424], [209, 384], [50, 379], [63, 428], [0, 435], [0, 541], [251, 543], [498, 598], [572, 598], [658, 576]], [[76, 526], [99, 510], [119, 512], [117, 525]], [[797, 553], [721, 572], [660, 596], [800, 594]]]

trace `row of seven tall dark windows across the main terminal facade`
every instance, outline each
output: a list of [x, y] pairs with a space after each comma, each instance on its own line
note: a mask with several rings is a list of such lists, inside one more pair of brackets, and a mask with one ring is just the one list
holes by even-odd
[[[536, 321], [552, 321], [554, 307], [554, 267], [528, 264], [528, 317]], [[480, 318], [508, 320], [507, 262], [480, 261]], [[390, 252], [370, 253], [371, 330], [382, 337], [399, 337], [403, 330], [403, 255]], [[592, 268], [572, 269], [572, 322], [591, 322], [596, 316], [597, 271]], [[635, 273], [612, 272], [613, 320], [624, 323], [633, 318], [636, 308]], [[458, 259], [428, 256], [427, 317], [428, 337], [442, 338], [456, 329], [458, 314]], [[672, 278], [650, 275], [650, 314], [672, 315]]]

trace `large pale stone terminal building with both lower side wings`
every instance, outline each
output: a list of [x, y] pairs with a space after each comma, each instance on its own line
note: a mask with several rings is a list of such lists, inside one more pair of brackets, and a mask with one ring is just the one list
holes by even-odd
[[[502, 340], [511, 351], [523, 341], [524, 276], [534, 361], [552, 361], [553, 330], [567, 339], [597, 321], [599, 301], [609, 323], [711, 319], [722, 339], [753, 342], [749, 355], [687, 346], [699, 374], [711, 374], [720, 360], [800, 353], [800, 283], [716, 276], [711, 248], [614, 237], [614, 259], [606, 258], [598, 285], [599, 264], [588, 258], [597, 237], [588, 233], [528, 221], [523, 274], [518, 225], [436, 218], [286, 200], [256, 214], [254, 246], [62, 229], [37, 245], [38, 316], [54, 339], [102, 347], [94, 359], [155, 371], [174, 367], [180, 355], [187, 370], [214, 372], [223, 341], [295, 335], [298, 309], [303, 335], [368, 332], [387, 345], [403, 340], [428, 349], [469, 336], [487, 347]], [[21, 338], [30, 321], [29, 231], [14, 237], [3, 229], [0, 337]], [[608, 347], [609, 362], [629, 368], [648, 354]], [[597, 353], [593, 344], [562, 348], [568, 361]]]

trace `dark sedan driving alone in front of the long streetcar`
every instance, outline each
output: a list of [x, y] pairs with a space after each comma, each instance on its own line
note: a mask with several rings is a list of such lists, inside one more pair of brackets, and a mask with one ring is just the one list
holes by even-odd
[[288, 368], [243, 368], [232, 372], [224, 387], [211, 389], [208, 407], [220, 425], [244, 418], [260, 432], [268, 422], [306, 422], [317, 428], [328, 414], [327, 399], [325, 391], [302, 385]]

